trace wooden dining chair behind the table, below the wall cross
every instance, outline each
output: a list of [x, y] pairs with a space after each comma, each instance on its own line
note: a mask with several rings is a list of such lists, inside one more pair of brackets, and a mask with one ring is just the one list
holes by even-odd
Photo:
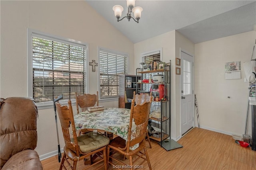
[[[83, 95], [77, 95], [76, 94], [76, 110], [77, 114], [80, 113], [79, 108], [81, 108], [82, 111], [86, 111], [88, 107], [92, 106], [99, 106], [98, 101], [98, 91], [96, 94], [83, 94]], [[88, 129], [80, 129], [78, 135], [85, 134], [87, 132], [90, 132]]]

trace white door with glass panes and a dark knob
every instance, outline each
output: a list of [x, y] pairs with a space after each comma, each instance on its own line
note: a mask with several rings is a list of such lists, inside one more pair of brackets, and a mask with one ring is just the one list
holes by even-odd
[[193, 57], [181, 51], [181, 134], [193, 127]]

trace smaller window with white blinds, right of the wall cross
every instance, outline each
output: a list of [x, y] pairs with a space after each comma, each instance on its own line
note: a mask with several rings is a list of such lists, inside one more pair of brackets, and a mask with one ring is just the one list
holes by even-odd
[[128, 73], [128, 55], [99, 49], [100, 98], [118, 97], [119, 74]]

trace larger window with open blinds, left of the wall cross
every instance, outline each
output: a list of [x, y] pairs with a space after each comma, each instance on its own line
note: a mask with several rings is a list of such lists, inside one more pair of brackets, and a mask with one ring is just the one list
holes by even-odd
[[85, 44], [34, 32], [28, 36], [28, 51], [32, 52], [28, 54], [32, 65], [29, 96], [42, 105], [52, 105], [52, 100], [61, 94], [63, 99], [72, 99], [75, 92], [86, 93]]

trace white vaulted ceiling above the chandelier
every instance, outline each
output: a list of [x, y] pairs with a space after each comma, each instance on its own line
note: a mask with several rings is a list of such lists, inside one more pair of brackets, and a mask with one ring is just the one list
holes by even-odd
[[86, 0], [110, 24], [133, 43], [177, 30], [193, 43], [200, 43], [254, 30], [256, 0], [136, 0], [143, 8], [139, 23], [126, 18], [117, 21], [114, 5], [125, 0]]

